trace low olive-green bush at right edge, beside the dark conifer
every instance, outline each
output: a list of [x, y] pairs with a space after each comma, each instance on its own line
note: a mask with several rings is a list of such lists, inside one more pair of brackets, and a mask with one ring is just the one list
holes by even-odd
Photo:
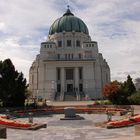
[[140, 105], [140, 90], [128, 97], [131, 104]]

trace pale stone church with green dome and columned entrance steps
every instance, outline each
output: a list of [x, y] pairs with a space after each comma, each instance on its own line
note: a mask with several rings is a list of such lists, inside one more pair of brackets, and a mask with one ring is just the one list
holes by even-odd
[[87, 25], [68, 8], [54, 21], [29, 72], [33, 98], [81, 101], [102, 98], [110, 68]]

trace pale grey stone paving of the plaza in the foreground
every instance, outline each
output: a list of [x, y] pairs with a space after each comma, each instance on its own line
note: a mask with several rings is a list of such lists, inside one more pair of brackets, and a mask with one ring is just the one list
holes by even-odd
[[[106, 121], [106, 115], [80, 114], [85, 120], [60, 120], [64, 115], [35, 117], [34, 123], [47, 123], [40, 130], [7, 129], [8, 140], [135, 140], [134, 127], [106, 129], [95, 123]], [[119, 119], [113, 116], [113, 119]], [[28, 121], [28, 118], [18, 119]], [[139, 139], [139, 138], [138, 138]]]

